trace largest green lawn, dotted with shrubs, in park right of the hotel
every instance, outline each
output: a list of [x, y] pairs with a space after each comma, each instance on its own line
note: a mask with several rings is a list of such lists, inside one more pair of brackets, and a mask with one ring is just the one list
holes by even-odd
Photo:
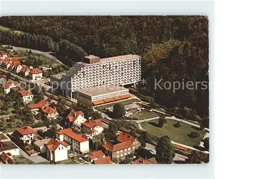
[[[144, 130], [151, 134], [154, 134], [158, 137], [167, 135], [170, 137], [170, 140], [174, 142], [178, 142], [192, 147], [194, 145], [199, 145], [200, 141], [204, 138], [205, 131], [198, 131], [193, 128], [193, 125], [181, 122], [181, 127], [177, 128], [173, 126], [173, 124], [177, 122], [176, 120], [166, 119], [166, 121], [167, 123], [164, 124], [162, 128], [157, 126], [158, 119], [142, 122], [140, 124]], [[188, 134], [190, 134], [190, 132], [192, 131], [199, 132], [200, 137], [196, 139], [190, 138]]]

